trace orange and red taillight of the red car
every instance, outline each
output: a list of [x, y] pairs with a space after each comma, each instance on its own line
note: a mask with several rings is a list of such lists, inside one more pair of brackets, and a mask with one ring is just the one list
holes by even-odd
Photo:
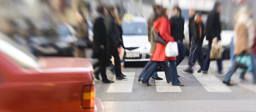
[[94, 85], [86, 85], [82, 89], [82, 104], [83, 109], [93, 109], [95, 104]]

